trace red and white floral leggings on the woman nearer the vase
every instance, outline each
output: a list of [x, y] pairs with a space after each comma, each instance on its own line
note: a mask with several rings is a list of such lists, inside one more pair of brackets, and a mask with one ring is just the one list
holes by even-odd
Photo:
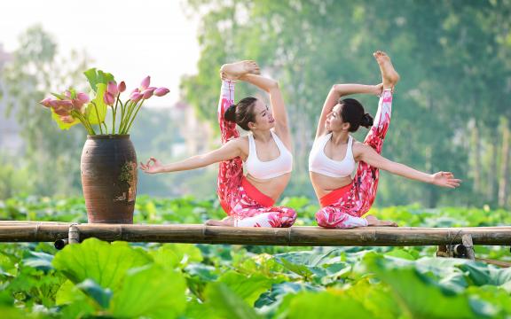
[[[236, 123], [224, 120], [224, 113], [232, 104], [234, 104], [234, 83], [223, 81], [218, 104], [222, 144], [240, 136]], [[279, 228], [291, 227], [295, 223], [294, 209], [273, 206], [272, 198], [248, 183], [243, 176], [243, 162], [240, 157], [220, 163], [217, 193], [225, 213], [234, 218], [234, 226]]]

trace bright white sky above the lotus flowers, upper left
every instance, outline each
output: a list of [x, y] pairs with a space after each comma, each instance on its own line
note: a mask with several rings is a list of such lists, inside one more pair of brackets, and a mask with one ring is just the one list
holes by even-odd
[[128, 89], [151, 75], [153, 86], [170, 93], [147, 105], [173, 105], [181, 76], [195, 74], [199, 59], [198, 21], [188, 19], [182, 6], [182, 0], [2, 0], [0, 43], [16, 50], [18, 36], [39, 23], [59, 44], [59, 54], [87, 51], [91, 66], [126, 81]]

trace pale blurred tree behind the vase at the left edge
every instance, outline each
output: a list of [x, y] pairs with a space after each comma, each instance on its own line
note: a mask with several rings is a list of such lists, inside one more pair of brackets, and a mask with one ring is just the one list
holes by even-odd
[[21, 127], [26, 150], [19, 154], [17, 168], [31, 172], [26, 183], [37, 195], [77, 194], [80, 183], [80, 154], [85, 131], [62, 132], [51, 114], [38, 101], [50, 91], [62, 91], [82, 81], [88, 58], [72, 52], [58, 56], [57, 43], [42, 27], [29, 27], [20, 35], [20, 48], [2, 74], [7, 116], [14, 115]]

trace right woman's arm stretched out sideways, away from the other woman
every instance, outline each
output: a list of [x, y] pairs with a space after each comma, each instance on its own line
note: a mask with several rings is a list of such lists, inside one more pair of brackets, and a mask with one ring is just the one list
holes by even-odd
[[438, 172], [436, 174], [427, 174], [418, 171], [404, 164], [385, 159], [383, 156], [373, 150], [371, 146], [361, 144], [359, 147], [358, 159], [367, 164], [388, 171], [389, 173], [400, 175], [409, 179], [423, 183], [432, 183], [436, 186], [456, 188], [460, 186], [461, 180], [454, 178], [451, 172]]

